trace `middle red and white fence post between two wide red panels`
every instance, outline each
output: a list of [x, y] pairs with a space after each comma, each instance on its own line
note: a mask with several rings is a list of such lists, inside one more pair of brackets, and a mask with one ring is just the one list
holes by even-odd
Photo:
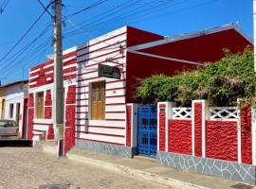
[[206, 120], [210, 112], [206, 100], [192, 100], [192, 155], [206, 157]]

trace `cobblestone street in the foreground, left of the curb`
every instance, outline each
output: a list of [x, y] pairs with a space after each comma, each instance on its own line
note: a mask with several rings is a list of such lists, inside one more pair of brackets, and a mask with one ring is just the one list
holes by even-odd
[[[0, 188], [170, 188], [97, 166], [58, 160], [37, 148], [0, 148]], [[53, 187], [55, 186], [55, 187]]]

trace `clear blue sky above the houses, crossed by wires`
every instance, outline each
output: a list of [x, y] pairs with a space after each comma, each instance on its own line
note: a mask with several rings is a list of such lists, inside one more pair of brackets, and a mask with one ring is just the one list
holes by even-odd
[[[0, 6], [4, 1], [0, 0]], [[49, 3], [49, 0], [41, 1], [45, 5]], [[63, 0], [63, 14], [67, 16], [95, 2], [99, 0]], [[37, 0], [9, 0], [0, 14], [0, 60], [43, 10]], [[65, 17], [64, 48], [120, 26], [135, 26], [170, 36], [236, 22], [252, 39], [252, 0], [108, 0], [93, 9]], [[19, 54], [44, 29], [44, 35]], [[46, 13], [22, 43], [0, 61], [2, 83], [27, 78], [29, 67], [45, 61], [46, 55], [52, 53], [51, 36], [51, 19]]]

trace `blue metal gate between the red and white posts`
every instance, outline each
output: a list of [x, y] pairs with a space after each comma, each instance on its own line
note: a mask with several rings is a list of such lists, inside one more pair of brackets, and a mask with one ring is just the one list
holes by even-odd
[[157, 150], [157, 108], [137, 108], [137, 155], [156, 157]]

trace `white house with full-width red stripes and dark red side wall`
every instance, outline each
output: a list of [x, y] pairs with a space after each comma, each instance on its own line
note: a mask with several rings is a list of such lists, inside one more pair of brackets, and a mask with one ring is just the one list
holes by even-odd
[[[131, 118], [137, 78], [172, 76], [242, 52], [250, 40], [236, 26], [164, 37], [124, 26], [78, 47], [76, 146], [132, 157], [137, 129]], [[101, 77], [99, 65], [119, 67], [120, 78]], [[100, 70], [100, 71], [99, 71]]]

